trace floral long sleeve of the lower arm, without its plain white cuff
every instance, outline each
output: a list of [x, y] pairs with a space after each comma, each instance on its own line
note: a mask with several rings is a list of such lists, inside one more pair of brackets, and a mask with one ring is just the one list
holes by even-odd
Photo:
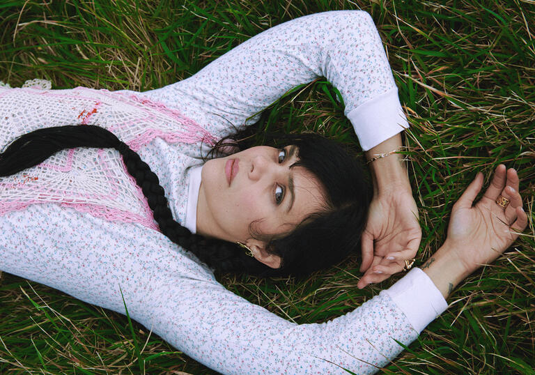
[[50, 204], [0, 216], [0, 227], [0, 270], [124, 314], [122, 292], [132, 319], [224, 374], [374, 372], [403, 349], [396, 340], [419, 334], [389, 292], [327, 323], [291, 323], [137, 224]]

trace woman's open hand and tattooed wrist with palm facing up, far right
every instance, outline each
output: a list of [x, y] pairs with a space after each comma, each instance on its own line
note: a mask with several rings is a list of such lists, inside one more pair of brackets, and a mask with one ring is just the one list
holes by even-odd
[[[514, 169], [506, 171], [500, 164], [485, 194], [473, 205], [482, 185], [483, 174], [478, 174], [453, 205], [444, 245], [420, 267], [444, 298], [474, 270], [499, 257], [527, 226]], [[496, 203], [499, 195], [509, 199], [506, 208]]]

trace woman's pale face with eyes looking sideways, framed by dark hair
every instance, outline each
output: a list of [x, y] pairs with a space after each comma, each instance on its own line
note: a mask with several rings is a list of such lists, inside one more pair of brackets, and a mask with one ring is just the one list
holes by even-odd
[[323, 188], [307, 169], [293, 167], [297, 160], [296, 146], [257, 146], [206, 162], [197, 232], [258, 245], [254, 234], [284, 234], [321, 211]]

